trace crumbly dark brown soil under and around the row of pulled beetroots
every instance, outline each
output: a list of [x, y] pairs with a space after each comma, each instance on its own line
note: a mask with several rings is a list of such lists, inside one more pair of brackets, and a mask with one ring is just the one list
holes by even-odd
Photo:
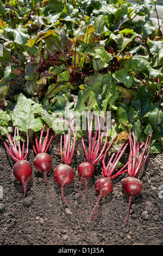
[[53, 158], [53, 168], [48, 173], [50, 194], [43, 175], [33, 166], [33, 150], [29, 150], [27, 160], [33, 166], [33, 175], [20, 215], [22, 186], [12, 175], [14, 162], [0, 142], [0, 245], [162, 245], [162, 154], [149, 157], [140, 176], [143, 190], [133, 197], [126, 225], [117, 229], [127, 214], [128, 197], [121, 187], [123, 177], [112, 180], [112, 192], [101, 199], [96, 220], [92, 218], [86, 227], [92, 201], [97, 197], [95, 181], [101, 176], [101, 166], [96, 166], [95, 175], [88, 180], [87, 196], [83, 186], [83, 194], [76, 202], [80, 183], [77, 167], [85, 160], [79, 142], [72, 161], [74, 180], [64, 190], [71, 208], [68, 212], [60, 202], [60, 187], [53, 179], [53, 170], [61, 162], [58, 149], [54, 138], [49, 150]]

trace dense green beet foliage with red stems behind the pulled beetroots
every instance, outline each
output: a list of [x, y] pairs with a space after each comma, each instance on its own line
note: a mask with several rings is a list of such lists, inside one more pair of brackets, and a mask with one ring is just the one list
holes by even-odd
[[[83, 111], [98, 116], [110, 112], [110, 141], [120, 132], [128, 133], [133, 163], [136, 159], [138, 163], [139, 146], [146, 146], [149, 138], [147, 156], [160, 153], [163, 38], [162, 24], [154, 26], [151, 21], [156, 8], [156, 1], [147, 7], [147, 1], [133, 5], [121, 0], [0, 0], [0, 132], [11, 142], [8, 136], [16, 129], [13, 145], [17, 142], [18, 155], [24, 153], [24, 149], [20, 151], [20, 143], [24, 148], [25, 142], [21, 135], [25, 134], [28, 142], [29, 132], [41, 132], [41, 142], [47, 124], [47, 133], [50, 129], [61, 135], [61, 146], [64, 136], [61, 160], [70, 164], [76, 139], [82, 138], [84, 146], [84, 131], [79, 126], [76, 132], [65, 130], [70, 120], [76, 124], [75, 113]], [[135, 21], [138, 15], [145, 21]], [[96, 131], [93, 145], [97, 137]], [[90, 139], [89, 132], [89, 143]], [[98, 150], [101, 142], [98, 137], [94, 153], [102, 156], [104, 151]], [[129, 155], [129, 176], [133, 155]], [[116, 165], [110, 167], [114, 153], [106, 165], [106, 159], [102, 161], [97, 154], [89, 157], [101, 161], [104, 176], [110, 178], [112, 170], [117, 170]], [[96, 214], [96, 206], [94, 210]]]

